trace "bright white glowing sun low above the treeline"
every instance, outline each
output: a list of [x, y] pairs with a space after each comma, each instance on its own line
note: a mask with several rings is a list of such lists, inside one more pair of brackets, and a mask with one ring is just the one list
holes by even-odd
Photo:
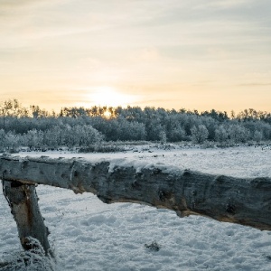
[[123, 94], [112, 87], [98, 87], [91, 91], [89, 100], [91, 100], [93, 106], [126, 107], [133, 103], [135, 98], [132, 95]]

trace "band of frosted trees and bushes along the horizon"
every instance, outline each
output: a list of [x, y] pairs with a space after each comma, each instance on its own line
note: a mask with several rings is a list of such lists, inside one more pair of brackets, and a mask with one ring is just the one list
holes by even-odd
[[0, 151], [19, 147], [46, 150], [152, 141], [217, 145], [271, 140], [271, 113], [249, 108], [238, 114], [215, 109], [161, 107], [63, 107], [59, 113], [22, 107], [17, 99], [0, 103]]

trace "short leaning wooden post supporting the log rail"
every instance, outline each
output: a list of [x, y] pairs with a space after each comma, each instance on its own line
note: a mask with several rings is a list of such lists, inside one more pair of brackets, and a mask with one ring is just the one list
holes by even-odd
[[35, 184], [3, 180], [3, 191], [16, 221], [23, 248], [35, 248], [35, 238], [41, 243], [45, 254], [52, 256], [48, 241], [49, 230], [44, 225], [39, 209]]

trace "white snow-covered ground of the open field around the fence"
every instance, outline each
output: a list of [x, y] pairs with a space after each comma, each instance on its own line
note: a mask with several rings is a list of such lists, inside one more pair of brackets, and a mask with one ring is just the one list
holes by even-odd
[[[126, 158], [203, 173], [271, 177], [271, 150], [267, 147], [136, 148], [136, 152], [117, 154], [46, 155]], [[202, 217], [180, 219], [171, 210], [132, 203], [107, 205], [90, 193], [76, 195], [42, 185], [37, 192], [42, 215], [51, 230], [56, 270], [271, 270], [271, 232]], [[4, 262], [19, 255], [22, 248], [3, 194], [0, 202], [0, 262]], [[147, 248], [154, 242], [158, 251]]]

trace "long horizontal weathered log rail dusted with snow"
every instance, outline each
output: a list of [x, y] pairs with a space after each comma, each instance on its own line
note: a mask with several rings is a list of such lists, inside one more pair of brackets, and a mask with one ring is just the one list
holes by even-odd
[[125, 159], [90, 162], [11, 155], [0, 156], [0, 174], [6, 181], [92, 192], [106, 203], [137, 202], [174, 210], [181, 217], [202, 215], [271, 230], [270, 178], [240, 179]]

